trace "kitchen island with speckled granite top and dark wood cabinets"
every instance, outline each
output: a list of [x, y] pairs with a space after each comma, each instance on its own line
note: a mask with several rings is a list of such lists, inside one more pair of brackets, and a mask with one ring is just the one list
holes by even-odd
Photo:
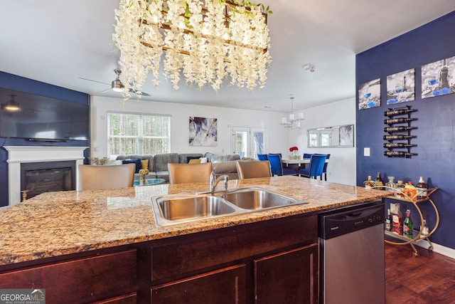
[[156, 226], [151, 196], [208, 183], [40, 194], [0, 211], [0, 288], [44, 288], [48, 303], [267, 303], [303, 284], [295, 296], [317, 302], [316, 215], [390, 195], [290, 176], [229, 182], [250, 186], [308, 204]]

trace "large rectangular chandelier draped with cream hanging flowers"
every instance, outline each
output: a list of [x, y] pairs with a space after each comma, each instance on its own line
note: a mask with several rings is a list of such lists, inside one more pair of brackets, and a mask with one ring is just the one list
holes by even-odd
[[140, 97], [149, 72], [159, 85], [163, 51], [164, 76], [174, 90], [181, 75], [186, 84], [215, 91], [228, 76], [239, 88], [263, 88], [272, 61], [271, 13], [247, 0], [121, 0], [112, 38], [120, 50], [120, 79], [131, 85], [124, 93], [132, 88]]

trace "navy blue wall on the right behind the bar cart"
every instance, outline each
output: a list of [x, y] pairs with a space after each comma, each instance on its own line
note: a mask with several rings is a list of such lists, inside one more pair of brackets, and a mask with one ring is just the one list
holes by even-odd
[[[406, 22], [405, 20], [403, 22]], [[371, 33], [374, 35], [374, 33]], [[381, 172], [382, 179], [395, 177], [395, 182], [412, 181], [417, 184], [419, 176], [423, 176], [429, 187], [438, 187], [431, 198], [437, 205], [440, 214], [439, 229], [430, 238], [434, 243], [455, 249], [455, 93], [422, 99], [421, 67], [427, 63], [440, 61], [455, 56], [455, 11], [442, 16], [424, 26], [414, 29], [375, 48], [356, 56], [356, 84], [381, 80], [380, 107], [358, 110], [357, 123], [357, 184], [363, 186], [368, 175], [373, 179]], [[415, 68], [416, 98], [412, 102], [386, 105], [387, 75]], [[449, 79], [455, 81], [455, 70], [450, 71]], [[357, 96], [358, 98], [358, 96]], [[358, 100], [358, 99], [357, 99]], [[410, 105], [417, 112], [412, 117], [417, 120], [412, 126], [412, 135], [417, 138], [411, 143], [411, 152], [418, 155], [411, 158], [385, 157], [386, 150], [382, 145], [384, 132], [384, 112], [387, 108], [401, 108]], [[363, 148], [370, 147], [370, 157], [363, 156]], [[386, 201], [386, 207], [392, 200]], [[417, 211], [412, 204], [401, 203], [401, 211], [411, 209], [414, 227], [419, 226]], [[430, 229], [436, 216], [429, 203], [419, 204], [422, 214], [429, 222]]]

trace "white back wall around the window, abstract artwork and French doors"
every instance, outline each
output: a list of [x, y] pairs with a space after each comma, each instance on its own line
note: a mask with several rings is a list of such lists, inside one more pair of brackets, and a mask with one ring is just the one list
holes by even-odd
[[[238, 110], [231, 108], [161, 103], [147, 100], [127, 100], [122, 107], [120, 99], [92, 96], [91, 144], [93, 156], [107, 155], [107, 111], [147, 112], [171, 115], [171, 151], [178, 153], [231, 153], [231, 127], [258, 127], [267, 132], [266, 151], [286, 152], [287, 131], [279, 125], [279, 112]], [[218, 119], [218, 147], [190, 147], [188, 145], [188, 122], [190, 116]], [[105, 117], [105, 118], [103, 118]]]

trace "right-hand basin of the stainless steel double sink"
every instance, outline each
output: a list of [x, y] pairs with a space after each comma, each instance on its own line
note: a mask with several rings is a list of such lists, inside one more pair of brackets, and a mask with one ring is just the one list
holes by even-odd
[[305, 201], [261, 188], [235, 189], [223, 194], [223, 197], [235, 206], [249, 210], [271, 209], [305, 203]]

